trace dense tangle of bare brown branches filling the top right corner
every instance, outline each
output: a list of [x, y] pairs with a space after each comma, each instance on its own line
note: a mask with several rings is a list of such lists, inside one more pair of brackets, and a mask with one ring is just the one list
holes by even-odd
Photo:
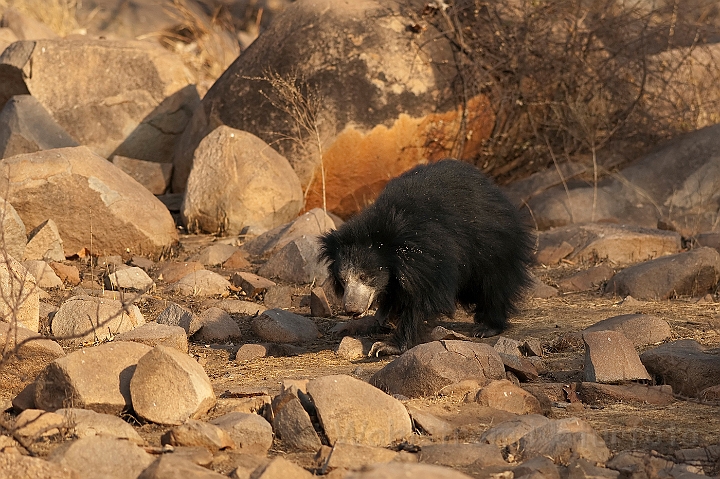
[[[476, 163], [501, 181], [553, 160], [624, 156], [717, 121], [720, 77], [703, 45], [714, 2], [431, 2], [422, 21], [454, 45], [461, 101], [496, 113]], [[703, 23], [704, 22], [704, 23]]]

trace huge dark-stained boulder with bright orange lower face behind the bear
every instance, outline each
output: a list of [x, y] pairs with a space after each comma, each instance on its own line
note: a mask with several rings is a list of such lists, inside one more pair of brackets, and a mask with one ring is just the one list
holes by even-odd
[[424, 6], [290, 3], [203, 98], [175, 156], [173, 190], [184, 190], [193, 151], [221, 124], [273, 145], [307, 188], [306, 207], [325, 199], [341, 216], [420, 162], [471, 158], [494, 116], [485, 97], [464, 111], [456, 103], [446, 37], [408, 28]]

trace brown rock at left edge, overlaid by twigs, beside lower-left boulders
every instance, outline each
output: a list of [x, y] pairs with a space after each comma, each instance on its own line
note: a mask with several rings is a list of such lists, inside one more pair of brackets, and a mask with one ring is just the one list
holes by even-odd
[[[65, 356], [58, 343], [22, 326], [0, 322], [0, 345], [8, 356], [0, 362], [0, 389], [19, 393], [32, 383], [45, 366]], [[14, 353], [10, 351], [15, 350]]]

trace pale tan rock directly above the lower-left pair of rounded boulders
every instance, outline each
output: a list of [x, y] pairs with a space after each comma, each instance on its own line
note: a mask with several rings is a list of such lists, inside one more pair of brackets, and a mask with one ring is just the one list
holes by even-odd
[[79, 345], [108, 340], [145, 323], [135, 305], [94, 296], [74, 296], [60, 305], [52, 321], [53, 336]]

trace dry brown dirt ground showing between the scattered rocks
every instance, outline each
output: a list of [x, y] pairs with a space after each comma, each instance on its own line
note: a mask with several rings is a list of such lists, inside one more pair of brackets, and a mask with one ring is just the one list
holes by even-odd
[[[209, 238], [184, 238], [184, 251], [179, 259], [208, 244]], [[178, 258], [175, 258], [178, 259]], [[78, 264], [79, 267], [82, 265]], [[537, 268], [534, 273], [546, 284], [553, 285], [559, 279], [569, 276], [580, 269], [591, 265], [563, 264], [556, 268]], [[227, 271], [215, 269], [227, 274]], [[164, 309], [168, 300], [183, 304], [199, 313], [208, 307], [207, 299], [184, 298], [169, 296], [161, 292], [146, 296], [148, 299], [139, 302], [139, 306], [147, 320], [152, 320]], [[310, 286], [295, 288], [294, 311], [309, 315], [309, 307], [303, 306], [302, 299], [310, 292]], [[53, 302], [59, 305], [70, 291], [53, 294]], [[679, 298], [664, 302], [636, 302], [633, 305], [623, 304], [620, 298], [604, 297], [600, 292], [561, 295], [551, 299], [528, 299], [521, 305], [520, 314], [511, 320], [511, 328], [504, 334], [507, 337], [522, 340], [538, 338], [545, 350], [545, 363], [548, 372], [540, 381], [568, 382], [582, 380], [582, 363], [584, 350], [582, 345], [569, 346], [562, 351], [553, 349], [559, 338], [568, 333], [577, 332], [608, 317], [644, 313], [659, 316], [667, 320], [673, 331], [674, 339], [695, 339], [706, 347], [716, 348], [720, 354], [720, 303], [697, 303], [692, 298]], [[249, 327], [250, 319], [235, 317], [243, 333], [243, 342], [260, 342], [253, 336]], [[346, 318], [315, 318], [322, 338], [305, 346], [305, 352], [292, 357], [265, 357], [246, 362], [235, 361], [238, 344], [204, 345], [191, 344], [193, 354], [205, 367], [215, 392], [221, 396], [228, 389], [248, 388], [267, 389], [271, 395], [279, 392], [280, 381], [285, 378], [316, 378], [328, 374], [348, 374], [368, 380], [372, 374], [390, 362], [393, 358], [367, 358], [348, 361], [337, 356], [333, 351], [340, 342], [339, 337], [332, 337], [328, 331], [338, 321]], [[439, 325], [463, 334], [471, 334], [472, 318], [459, 311], [452, 320], [440, 320]], [[379, 337], [378, 337], [379, 338]], [[493, 338], [482, 339], [489, 344]], [[69, 351], [69, 349], [67, 349]], [[211, 410], [209, 417], [228, 412], [231, 401], [219, 399], [218, 406]], [[428, 397], [412, 400], [413, 405], [427, 409], [439, 417], [457, 426], [454, 440], [472, 442], [482, 432], [497, 422], [502, 415], [493, 414], [488, 408], [477, 404], [464, 403], [458, 397]], [[589, 422], [605, 439], [612, 452], [622, 450], [656, 451], [660, 455], [672, 455], [681, 448], [703, 447], [720, 443], [720, 405], [700, 404], [692, 400], [679, 398], [670, 406], [652, 406], [640, 404], [612, 404], [602, 407], [573, 409], [572, 412], [562, 407], [553, 407], [551, 417], [562, 418], [577, 416]], [[132, 417], [128, 417], [133, 422]], [[160, 435], [167, 428], [152, 424], [139, 425], [139, 432], [151, 446], [160, 445]], [[36, 451], [44, 455], [53, 444], [36, 444]], [[281, 444], [271, 449], [271, 455], [288, 455], [300, 464], [310, 466], [311, 455], [292, 454], [283, 451]], [[219, 472], [232, 469], [228, 458], [227, 470], [222, 460], [214, 464]], [[472, 473], [472, 471], [466, 471]], [[720, 474], [720, 471], [706, 471], [709, 474]]]

